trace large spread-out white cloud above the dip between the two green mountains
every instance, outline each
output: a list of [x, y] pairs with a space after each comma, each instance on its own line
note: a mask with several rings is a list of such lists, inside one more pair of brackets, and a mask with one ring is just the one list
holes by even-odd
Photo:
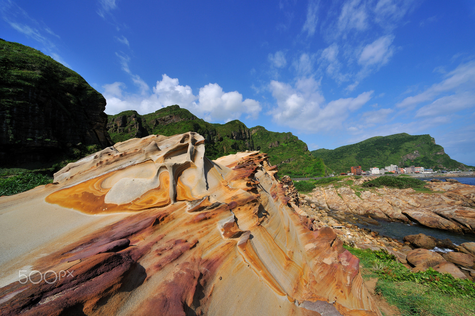
[[305, 133], [338, 129], [350, 112], [358, 110], [371, 99], [373, 91], [356, 98], [342, 98], [325, 104], [320, 82], [313, 77], [297, 80], [295, 86], [271, 81], [269, 89], [277, 107], [268, 112], [273, 120]]

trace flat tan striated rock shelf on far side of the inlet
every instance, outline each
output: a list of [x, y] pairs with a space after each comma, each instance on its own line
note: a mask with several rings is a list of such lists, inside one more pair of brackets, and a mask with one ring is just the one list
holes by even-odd
[[[348, 179], [345, 179], [348, 180]], [[369, 177], [354, 180], [355, 185]], [[350, 186], [317, 187], [310, 194], [316, 206], [347, 214], [370, 215], [386, 221], [418, 222], [459, 233], [475, 233], [475, 186], [430, 182], [433, 193], [413, 189], [376, 188], [357, 191]]]

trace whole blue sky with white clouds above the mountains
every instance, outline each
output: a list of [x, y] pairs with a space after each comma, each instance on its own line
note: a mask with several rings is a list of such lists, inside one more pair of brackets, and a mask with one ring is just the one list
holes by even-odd
[[[205, 3], [201, 3], [205, 2]], [[475, 2], [8, 1], [0, 37], [104, 94], [292, 131], [309, 149], [430, 134], [475, 165]]]

